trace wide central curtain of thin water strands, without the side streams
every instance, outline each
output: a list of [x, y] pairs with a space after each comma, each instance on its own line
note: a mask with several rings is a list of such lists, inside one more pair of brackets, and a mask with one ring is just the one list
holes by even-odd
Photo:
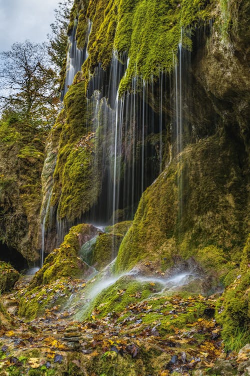
[[[132, 219], [140, 196], [158, 175], [162, 162], [163, 82], [160, 109], [153, 109], [153, 88], [134, 77], [131, 91], [119, 97], [119, 83], [128, 66], [126, 54], [113, 52], [110, 68], [95, 68], [88, 86], [87, 118], [92, 119], [101, 166], [102, 189], [99, 202], [83, 221], [111, 223]], [[142, 93], [142, 94], [141, 94]], [[88, 127], [87, 127], [88, 128]], [[157, 133], [157, 136], [155, 136]]]

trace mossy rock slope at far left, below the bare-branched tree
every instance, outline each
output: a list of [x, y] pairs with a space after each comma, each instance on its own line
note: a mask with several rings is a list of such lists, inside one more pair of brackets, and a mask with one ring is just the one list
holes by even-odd
[[40, 174], [47, 132], [15, 114], [0, 120], [0, 239], [28, 261], [40, 248]]

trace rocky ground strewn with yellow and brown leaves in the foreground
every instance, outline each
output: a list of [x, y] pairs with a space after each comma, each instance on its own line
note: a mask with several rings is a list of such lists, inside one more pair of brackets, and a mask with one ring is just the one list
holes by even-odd
[[[82, 321], [75, 312], [83, 304], [85, 281], [68, 279], [68, 301], [74, 294], [77, 303], [56, 305], [64, 294], [58, 281], [55, 305], [24, 322], [16, 314], [28, 282], [22, 278], [15, 291], [2, 295], [10, 321], [0, 325], [0, 376], [250, 374], [249, 345], [239, 352], [224, 349], [214, 319], [216, 296], [153, 293], [142, 299], [137, 291], [132, 303], [105, 313], [100, 303]], [[126, 291], [116, 294], [122, 302]]]

